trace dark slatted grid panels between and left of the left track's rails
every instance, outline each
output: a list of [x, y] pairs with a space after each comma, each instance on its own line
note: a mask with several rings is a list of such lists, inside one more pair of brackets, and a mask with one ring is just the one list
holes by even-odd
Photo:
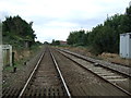
[[[7, 88], [2, 95], [2, 98], [17, 98], [21, 89]], [[67, 96], [61, 87], [45, 87], [37, 89], [26, 89], [22, 98], [25, 97], [44, 97], [44, 96]]]

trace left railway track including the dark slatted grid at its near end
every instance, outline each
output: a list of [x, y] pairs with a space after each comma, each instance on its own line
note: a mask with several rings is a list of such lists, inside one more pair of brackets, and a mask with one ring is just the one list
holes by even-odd
[[24, 87], [19, 89], [9, 87], [3, 91], [2, 98], [39, 98], [44, 96], [71, 98], [56, 59], [48, 48], [40, 56]]

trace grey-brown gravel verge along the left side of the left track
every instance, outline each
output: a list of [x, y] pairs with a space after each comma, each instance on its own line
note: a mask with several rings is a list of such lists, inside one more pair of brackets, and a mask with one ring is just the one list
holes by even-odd
[[[24, 51], [25, 54], [19, 56], [19, 53], [15, 53], [17, 59], [21, 57], [28, 57], [29, 51]], [[22, 87], [23, 84], [26, 82], [28, 75], [31, 74], [31, 71], [33, 70], [35, 63], [37, 62], [38, 58], [40, 57], [41, 50], [32, 53], [28, 60], [26, 60], [25, 63], [20, 63], [16, 66], [16, 72], [13, 73], [13, 66], [5, 66], [2, 71], [2, 88], [7, 87]]]

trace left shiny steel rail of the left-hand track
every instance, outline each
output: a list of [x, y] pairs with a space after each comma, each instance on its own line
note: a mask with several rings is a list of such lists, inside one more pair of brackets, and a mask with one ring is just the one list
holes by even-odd
[[25, 85], [24, 85], [23, 89], [21, 90], [21, 93], [20, 93], [20, 95], [19, 95], [17, 98], [21, 98], [21, 97], [23, 96], [25, 89], [27, 88], [27, 86], [28, 86], [31, 79], [33, 78], [33, 75], [34, 75], [34, 73], [36, 72], [36, 70], [37, 70], [37, 68], [38, 68], [38, 65], [39, 65], [39, 63], [40, 63], [40, 61], [41, 61], [41, 59], [43, 59], [44, 56], [45, 56], [45, 51], [41, 53], [41, 56], [40, 56], [40, 58], [39, 58], [37, 64], [35, 65], [35, 69], [34, 69], [33, 72], [31, 73], [31, 75], [29, 75], [27, 82], [25, 83]]

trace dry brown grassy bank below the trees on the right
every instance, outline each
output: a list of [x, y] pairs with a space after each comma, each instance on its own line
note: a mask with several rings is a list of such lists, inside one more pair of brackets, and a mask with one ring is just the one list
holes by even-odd
[[83, 47], [62, 47], [62, 48], [71, 50], [73, 52], [78, 52], [83, 56], [94, 58], [94, 59], [100, 59], [100, 60], [114, 62], [117, 64], [131, 65], [131, 59], [120, 58], [120, 56], [117, 53], [103, 52], [102, 54], [95, 56], [91, 53], [88, 49], [83, 48]]

